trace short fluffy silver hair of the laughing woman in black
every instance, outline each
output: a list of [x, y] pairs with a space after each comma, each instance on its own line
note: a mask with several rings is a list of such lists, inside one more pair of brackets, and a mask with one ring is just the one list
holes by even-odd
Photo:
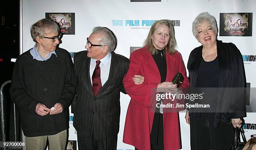
[[207, 22], [212, 26], [212, 28], [215, 31], [216, 36], [217, 36], [218, 27], [217, 27], [216, 19], [212, 15], [210, 15], [210, 13], [203, 12], [203, 13], [200, 13], [199, 15], [197, 15], [197, 17], [195, 18], [195, 20], [192, 23], [192, 32], [193, 32], [193, 35], [195, 36], [195, 38], [197, 38], [197, 27], [200, 26], [200, 24], [204, 23], [204, 22]]

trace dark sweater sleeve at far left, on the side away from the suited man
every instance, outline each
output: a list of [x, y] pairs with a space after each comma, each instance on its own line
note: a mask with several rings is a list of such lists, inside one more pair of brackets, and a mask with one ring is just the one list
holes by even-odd
[[19, 56], [15, 62], [13, 68], [13, 76], [10, 87], [10, 96], [15, 105], [20, 109], [36, 114], [36, 105], [41, 103], [38, 100], [33, 99], [28, 95], [26, 90], [26, 85], [24, 83], [24, 65], [25, 59], [24, 55]]

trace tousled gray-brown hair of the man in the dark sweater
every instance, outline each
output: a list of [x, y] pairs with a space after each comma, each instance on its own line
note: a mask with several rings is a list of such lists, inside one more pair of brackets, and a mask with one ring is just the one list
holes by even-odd
[[34, 23], [30, 28], [31, 37], [36, 42], [36, 37], [44, 37], [47, 31], [58, 32], [59, 25], [51, 19], [41, 19]]

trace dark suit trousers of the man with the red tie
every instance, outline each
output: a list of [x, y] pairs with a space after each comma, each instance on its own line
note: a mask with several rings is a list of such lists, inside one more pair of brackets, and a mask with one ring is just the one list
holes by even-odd
[[96, 140], [94, 132], [89, 138], [77, 134], [77, 142], [79, 150], [116, 150], [117, 135], [108, 139]]

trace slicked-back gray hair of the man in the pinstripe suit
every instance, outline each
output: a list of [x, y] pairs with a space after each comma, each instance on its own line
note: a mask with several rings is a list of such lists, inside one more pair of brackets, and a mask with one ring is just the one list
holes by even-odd
[[117, 39], [113, 31], [107, 27], [95, 27], [92, 29], [92, 33], [101, 33], [102, 37], [100, 40], [100, 45], [108, 46], [108, 52], [115, 50], [117, 45]]

